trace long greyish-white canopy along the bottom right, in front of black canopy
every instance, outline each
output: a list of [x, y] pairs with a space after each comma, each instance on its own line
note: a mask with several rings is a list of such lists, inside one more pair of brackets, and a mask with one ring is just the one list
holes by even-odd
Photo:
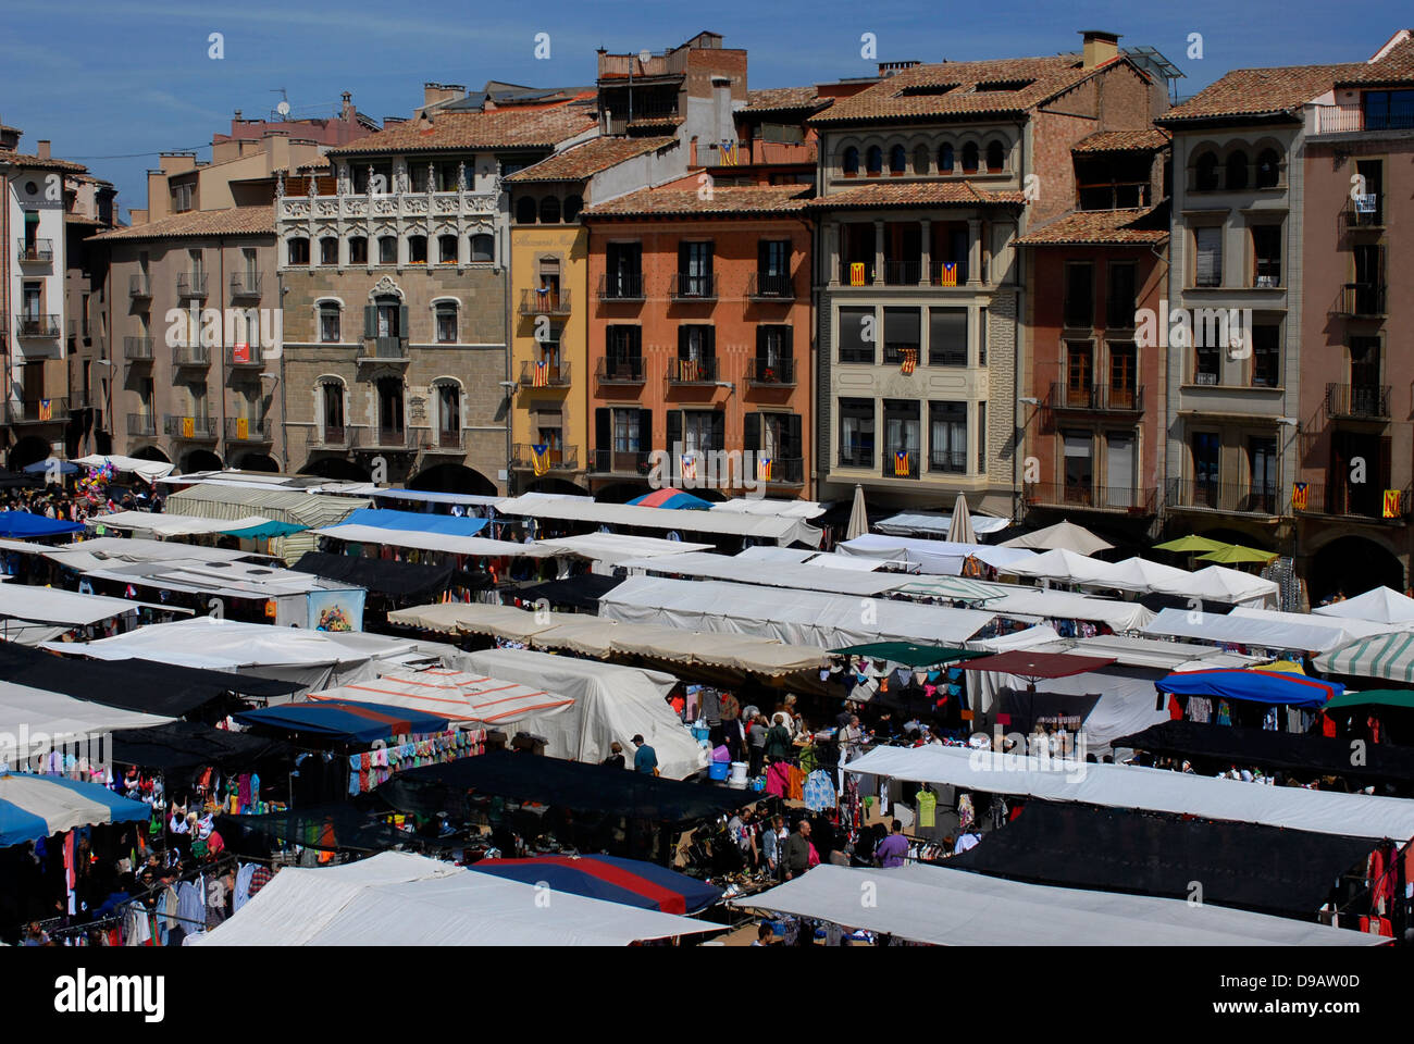
[[[861, 895], [871, 901], [861, 903]], [[823, 864], [730, 903], [940, 946], [1377, 946], [1386, 941], [1178, 898], [1056, 888], [933, 866]]]

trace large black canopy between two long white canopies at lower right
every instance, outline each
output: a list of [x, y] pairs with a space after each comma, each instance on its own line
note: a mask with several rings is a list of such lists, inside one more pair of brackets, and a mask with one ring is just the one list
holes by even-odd
[[1254, 823], [1027, 802], [1015, 820], [947, 860], [1032, 884], [1188, 898], [1309, 918], [1374, 842]]

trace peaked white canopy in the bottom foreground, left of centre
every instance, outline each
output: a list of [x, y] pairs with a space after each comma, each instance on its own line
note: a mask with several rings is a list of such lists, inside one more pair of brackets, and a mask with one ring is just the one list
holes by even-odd
[[721, 925], [478, 874], [410, 852], [287, 867], [205, 946], [625, 946]]

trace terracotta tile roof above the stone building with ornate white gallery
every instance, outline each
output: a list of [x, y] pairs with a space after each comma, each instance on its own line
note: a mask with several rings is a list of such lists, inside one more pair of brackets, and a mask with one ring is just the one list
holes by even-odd
[[390, 130], [361, 137], [327, 156], [413, 153], [440, 149], [553, 149], [560, 141], [592, 130], [594, 110], [584, 105], [551, 109], [496, 109], [493, 112], [436, 112], [431, 120], [407, 120]]

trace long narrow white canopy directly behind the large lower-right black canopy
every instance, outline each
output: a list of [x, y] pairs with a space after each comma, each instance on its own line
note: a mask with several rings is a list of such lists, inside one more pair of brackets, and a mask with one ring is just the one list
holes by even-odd
[[946, 784], [988, 794], [1024, 794], [1106, 808], [1230, 819], [1356, 837], [1414, 837], [1414, 801], [1308, 791], [1189, 775], [1162, 768], [1086, 764], [966, 747], [875, 747], [846, 768], [867, 775]]

